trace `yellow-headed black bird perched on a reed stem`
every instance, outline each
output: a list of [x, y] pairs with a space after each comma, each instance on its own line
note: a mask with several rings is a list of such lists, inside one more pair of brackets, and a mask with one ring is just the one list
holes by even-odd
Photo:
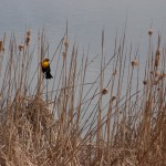
[[49, 59], [44, 59], [43, 62], [41, 62], [41, 68], [42, 72], [45, 74], [45, 79], [52, 79], [53, 76], [51, 75], [51, 69], [50, 69], [50, 63]]

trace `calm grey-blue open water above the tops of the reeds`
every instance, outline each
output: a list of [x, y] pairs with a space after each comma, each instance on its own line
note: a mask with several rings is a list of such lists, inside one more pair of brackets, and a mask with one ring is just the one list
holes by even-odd
[[[127, 41], [134, 50], [139, 45], [143, 54], [147, 53], [147, 31], [153, 27], [155, 37], [166, 32], [166, 0], [1, 0], [0, 37], [6, 32], [10, 37], [14, 32], [21, 42], [27, 28], [31, 28], [33, 37], [45, 29], [50, 48], [58, 45], [69, 22], [70, 41], [77, 41], [82, 54], [90, 46], [90, 58], [101, 53], [101, 32], [105, 31], [105, 53], [110, 56], [114, 49], [116, 32], [122, 37], [127, 18]], [[53, 49], [50, 54], [53, 54]], [[90, 69], [94, 76], [98, 62]]]

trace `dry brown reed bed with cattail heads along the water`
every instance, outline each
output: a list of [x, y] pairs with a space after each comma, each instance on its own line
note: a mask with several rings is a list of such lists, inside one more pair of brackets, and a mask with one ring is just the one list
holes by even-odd
[[[0, 165], [166, 165], [166, 48], [159, 34], [152, 45], [153, 31], [147, 33], [144, 69], [139, 50], [126, 49], [125, 32], [108, 60], [104, 31], [92, 60], [71, 44], [68, 27], [52, 54], [44, 31], [37, 42], [32, 35], [28, 30], [21, 43], [14, 34], [0, 41]], [[46, 81], [40, 62], [48, 55], [53, 80]], [[91, 81], [96, 60], [100, 72]]]

